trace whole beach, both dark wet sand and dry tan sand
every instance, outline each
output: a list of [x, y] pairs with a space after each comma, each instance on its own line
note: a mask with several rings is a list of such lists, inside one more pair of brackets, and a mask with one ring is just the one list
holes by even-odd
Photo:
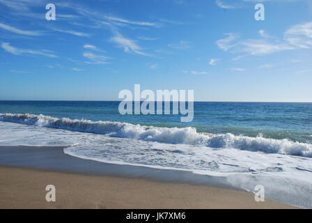
[[[223, 178], [83, 160], [63, 148], [0, 146], [0, 208], [296, 208], [256, 202]], [[49, 184], [56, 202], [45, 201]]]

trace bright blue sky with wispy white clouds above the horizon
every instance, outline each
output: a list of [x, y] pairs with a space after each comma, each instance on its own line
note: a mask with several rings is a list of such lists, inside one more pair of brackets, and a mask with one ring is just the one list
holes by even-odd
[[311, 0], [0, 0], [0, 100], [312, 102], [311, 59]]

